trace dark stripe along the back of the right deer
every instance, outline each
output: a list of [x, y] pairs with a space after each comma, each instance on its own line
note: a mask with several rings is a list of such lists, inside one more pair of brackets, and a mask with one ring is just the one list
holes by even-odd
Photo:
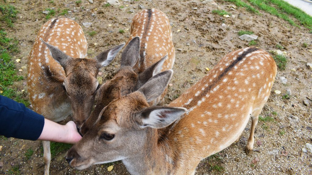
[[224, 69], [224, 71], [217, 77], [214, 79], [214, 81], [211, 82], [211, 84], [206, 87], [197, 97], [195, 97], [188, 105], [184, 106], [186, 108], [191, 108], [195, 105], [197, 105], [197, 102], [199, 100], [202, 99], [202, 97], [205, 97], [206, 94], [211, 91], [211, 89], [213, 89], [214, 87], [216, 87], [219, 82], [221, 81], [221, 79], [230, 71], [234, 68], [234, 66], [240, 62], [242, 59], [244, 59], [246, 57], [247, 54], [252, 53], [254, 51], [257, 51], [259, 49], [257, 49], [256, 47], [251, 47], [248, 50], [244, 51], [241, 55], [239, 55], [236, 60], [234, 60], [226, 69]]

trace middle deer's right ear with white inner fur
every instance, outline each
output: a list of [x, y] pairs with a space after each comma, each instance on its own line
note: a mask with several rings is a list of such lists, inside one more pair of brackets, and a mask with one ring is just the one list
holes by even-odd
[[161, 68], [163, 67], [163, 63], [168, 58], [168, 56], [164, 56], [161, 60], [159, 60], [157, 63], [149, 66], [147, 69], [145, 69], [143, 72], [139, 73], [138, 79], [140, 83], [144, 84], [146, 83], [149, 78], [153, 77], [154, 75], [157, 75], [160, 73]]

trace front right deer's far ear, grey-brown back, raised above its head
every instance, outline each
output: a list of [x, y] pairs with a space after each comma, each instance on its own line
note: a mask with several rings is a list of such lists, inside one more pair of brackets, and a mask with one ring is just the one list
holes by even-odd
[[138, 91], [142, 92], [147, 100], [151, 102], [158, 98], [167, 87], [173, 70], [166, 70], [149, 79]]

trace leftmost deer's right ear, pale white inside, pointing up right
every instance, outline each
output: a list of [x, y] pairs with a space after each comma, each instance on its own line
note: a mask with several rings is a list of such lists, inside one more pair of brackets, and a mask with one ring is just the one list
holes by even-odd
[[115, 56], [118, 54], [118, 52], [124, 47], [124, 44], [125, 43], [117, 45], [116, 47], [106, 50], [97, 55], [95, 59], [100, 64], [100, 67], [109, 65], [113, 61]]

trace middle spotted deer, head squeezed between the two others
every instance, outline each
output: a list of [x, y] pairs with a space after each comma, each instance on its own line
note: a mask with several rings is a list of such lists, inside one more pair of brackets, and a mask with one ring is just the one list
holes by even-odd
[[[101, 110], [112, 100], [138, 90], [161, 71], [172, 69], [174, 60], [168, 17], [157, 9], [138, 12], [131, 23], [130, 37], [121, 55], [121, 66], [115, 76], [100, 87], [94, 111], [81, 126], [80, 133], [84, 135], [92, 127]], [[162, 103], [166, 91], [149, 103]]]

